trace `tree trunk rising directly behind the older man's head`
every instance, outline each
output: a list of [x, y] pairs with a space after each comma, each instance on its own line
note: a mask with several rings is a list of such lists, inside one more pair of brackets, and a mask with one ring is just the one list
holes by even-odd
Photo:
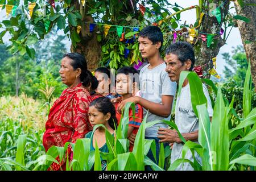
[[[211, 3], [216, 3], [216, 7], [218, 6], [218, 0], [211, 1]], [[209, 7], [210, 1], [206, 1], [206, 6]], [[199, 28], [199, 38], [194, 46], [195, 50], [195, 58], [197, 65], [205, 65], [203, 68], [203, 73], [206, 78], [210, 77], [210, 74], [208, 73], [211, 68], [213, 68], [212, 62], [210, 60], [213, 57], [216, 57], [218, 55], [218, 52], [220, 51], [220, 47], [224, 46], [225, 41], [221, 38], [219, 35], [221, 30], [221, 24], [223, 22], [224, 17], [226, 14], [228, 14], [229, 10], [229, 1], [225, 1], [224, 6], [220, 8], [221, 11], [221, 22], [218, 23], [218, 20], [215, 16], [210, 17], [209, 16], [209, 9], [206, 10], [206, 14], [204, 15], [201, 26]], [[201, 34], [203, 32], [204, 34]], [[206, 34], [205, 34], [206, 33]], [[203, 39], [201, 39], [202, 36], [207, 36], [207, 34], [217, 34], [214, 37], [214, 46], [211, 46], [210, 48], [207, 47], [207, 41], [204, 42]]]

